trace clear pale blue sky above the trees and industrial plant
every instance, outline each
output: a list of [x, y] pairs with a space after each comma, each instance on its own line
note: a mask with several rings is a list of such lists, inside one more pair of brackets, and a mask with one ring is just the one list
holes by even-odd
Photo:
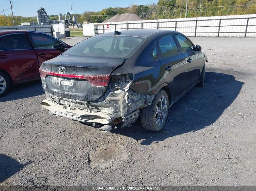
[[[45, 8], [48, 15], [71, 13], [70, 0], [11, 0], [13, 15], [24, 17], [35, 17], [40, 7]], [[71, 0], [73, 14], [84, 13], [84, 11], [101, 11], [108, 7], [127, 7], [131, 4], [145, 5], [158, 2], [158, 0]], [[0, 0], [0, 12], [10, 8], [9, 0]], [[3, 15], [3, 13], [0, 13]], [[12, 14], [11, 9], [5, 11], [5, 15]]]

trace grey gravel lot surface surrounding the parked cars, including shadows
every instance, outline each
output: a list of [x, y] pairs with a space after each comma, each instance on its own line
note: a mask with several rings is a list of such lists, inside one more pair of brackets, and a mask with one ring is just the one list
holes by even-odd
[[0, 185], [256, 185], [256, 38], [191, 40], [208, 55], [205, 85], [160, 132], [138, 121], [104, 134], [42, 110], [41, 81], [12, 88], [0, 98]]

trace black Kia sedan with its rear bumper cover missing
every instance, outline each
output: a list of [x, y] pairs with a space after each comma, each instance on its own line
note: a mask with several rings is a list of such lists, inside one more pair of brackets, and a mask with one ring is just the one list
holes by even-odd
[[199, 45], [169, 30], [100, 34], [43, 62], [40, 71], [52, 114], [85, 123], [159, 131], [168, 109], [194, 85], [204, 85], [207, 57]]

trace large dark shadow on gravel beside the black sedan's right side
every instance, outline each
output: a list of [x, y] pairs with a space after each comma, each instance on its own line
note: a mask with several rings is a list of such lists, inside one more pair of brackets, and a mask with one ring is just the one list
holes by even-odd
[[205, 72], [204, 87], [195, 86], [169, 109], [165, 126], [159, 132], [145, 130], [138, 120], [115, 133], [141, 140], [141, 145], [163, 141], [175, 135], [195, 132], [210, 126], [231, 105], [244, 83], [233, 75]]

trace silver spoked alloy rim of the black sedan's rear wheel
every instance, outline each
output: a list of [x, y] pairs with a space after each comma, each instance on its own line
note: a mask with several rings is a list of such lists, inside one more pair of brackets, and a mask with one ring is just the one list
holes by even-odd
[[156, 105], [156, 110], [155, 110], [155, 123], [160, 126], [162, 123], [165, 121], [165, 116], [167, 113], [167, 101], [164, 96], [160, 97], [158, 100], [158, 103]]

